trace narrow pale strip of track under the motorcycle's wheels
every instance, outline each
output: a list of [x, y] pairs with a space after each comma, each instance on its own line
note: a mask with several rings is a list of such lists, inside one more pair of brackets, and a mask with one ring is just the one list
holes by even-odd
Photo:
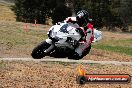
[[119, 61], [94, 61], [94, 60], [71, 60], [66, 58], [0, 58], [0, 60], [8, 61], [36, 61], [36, 62], [63, 62], [63, 63], [82, 63], [82, 64], [113, 64], [113, 65], [132, 65], [132, 62], [119, 62]]

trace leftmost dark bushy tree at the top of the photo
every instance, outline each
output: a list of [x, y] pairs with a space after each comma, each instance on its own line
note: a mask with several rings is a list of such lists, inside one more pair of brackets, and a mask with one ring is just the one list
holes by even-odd
[[14, 12], [17, 21], [32, 23], [37, 20], [44, 23], [47, 10], [46, 1], [43, 0], [15, 0]]

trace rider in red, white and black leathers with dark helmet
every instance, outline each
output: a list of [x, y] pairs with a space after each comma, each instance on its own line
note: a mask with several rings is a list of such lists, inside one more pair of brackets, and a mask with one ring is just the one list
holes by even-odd
[[[74, 18], [74, 19], [73, 19]], [[75, 49], [75, 56], [83, 55], [83, 51], [88, 47], [91, 47], [91, 43], [94, 40], [94, 28], [89, 20], [89, 13], [85, 10], [81, 10], [77, 13], [76, 17], [68, 17], [66, 22], [77, 23], [79, 26], [76, 28], [82, 38], [80, 39], [80, 45]]]

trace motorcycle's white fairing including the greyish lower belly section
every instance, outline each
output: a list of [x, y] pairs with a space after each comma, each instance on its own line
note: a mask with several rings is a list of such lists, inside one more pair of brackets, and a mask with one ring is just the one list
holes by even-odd
[[[50, 28], [50, 38], [54, 41], [55, 46], [57, 47], [74, 47], [74, 44], [71, 42], [79, 41], [81, 38], [80, 34], [76, 32], [78, 25], [69, 24], [69, 23], [60, 23], [54, 25]], [[68, 40], [70, 38], [70, 40]]]

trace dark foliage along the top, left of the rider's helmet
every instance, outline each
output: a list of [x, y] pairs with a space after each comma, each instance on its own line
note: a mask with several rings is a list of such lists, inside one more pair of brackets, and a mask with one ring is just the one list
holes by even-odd
[[[63, 3], [63, 5], [60, 4], [60, 2]], [[60, 9], [60, 5], [64, 8]], [[58, 9], [58, 6], [60, 11], [56, 13], [55, 11]], [[15, 0], [15, 6], [13, 8], [17, 16], [17, 21], [32, 23], [34, 20], [37, 20], [38, 23], [42, 24], [45, 23], [46, 18], [49, 17], [52, 17], [53, 22], [55, 22], [56, 19], [54, 17], [57, 17], [58, 14], [59, 16], [61, 15], [59, 20], [64, 19], [67, 15], [69, 16], [66, 11], [70, 10], [67, 9], [64, 0]]]

